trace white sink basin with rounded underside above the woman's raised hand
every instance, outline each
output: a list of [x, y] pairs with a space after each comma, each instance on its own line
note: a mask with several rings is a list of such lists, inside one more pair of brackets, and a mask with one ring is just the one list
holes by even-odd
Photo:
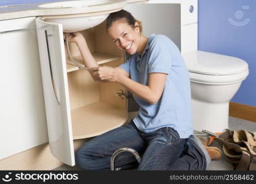
[[126, 4], [126, 0], [84, 0], [53, 2], [42, 4], [39, 7], [63, 9], [63, 12], [68, 8], [84, 10], [82, 13], [72, 15], [62, 14], [41, 18], [43, 21], [62, 24], [64, 32], [73, 33], [99, 25], [110, 13], [121, 10]]

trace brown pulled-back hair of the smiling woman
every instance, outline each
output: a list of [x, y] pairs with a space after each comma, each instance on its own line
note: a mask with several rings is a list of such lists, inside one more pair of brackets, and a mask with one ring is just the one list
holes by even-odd
[[132, 26], [132, 28], [135, 27], [135, 22], [138, 23], [138, 28], [140, 28], [140, 33], [142, 33], [142, 22], [139, 20], [136, 20], [134, 16], [130, 12], [127, 12], [126, 10], [120, 10], [118, 12], [113, 12], [108, 15], [108, 18], [106, 18], [106, 31], [108, 31], [108, 28], [110, 28], [114, 21], [117, 20], [123, 20], [128, 25]]

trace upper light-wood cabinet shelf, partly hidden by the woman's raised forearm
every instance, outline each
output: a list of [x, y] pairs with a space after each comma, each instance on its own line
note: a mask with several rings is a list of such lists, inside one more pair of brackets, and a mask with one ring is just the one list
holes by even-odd
[[[108, 63], [111, 61], [116, 61], [118, 59], [121, 59], [120, 56], [109, 55], [109, 54], [98, 53], [98, 52], [92, 53], [92, 56], [94, 56], [94, 59], [98, 64]], [[84, 66], [84, 61], [82, 60], [82, 56], [74, 56], [73, 58], [79, 64], [82, 64]], [[66, 58], [66, 72], [73, 72], [78, 70], [79, 70], [79, 67], [72, 64], [69, 58]]]

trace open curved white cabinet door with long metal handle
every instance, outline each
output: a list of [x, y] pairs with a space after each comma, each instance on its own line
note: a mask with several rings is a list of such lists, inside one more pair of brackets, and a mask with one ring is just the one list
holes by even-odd
[[70, 100], [62, 25], [36, 18], [47, 129], [52, 155], [74, 166]]

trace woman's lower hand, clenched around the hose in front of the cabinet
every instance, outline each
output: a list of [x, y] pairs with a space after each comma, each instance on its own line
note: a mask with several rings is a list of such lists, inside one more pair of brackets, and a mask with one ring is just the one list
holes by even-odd
[[[102, 82], [118, 82], [117, 81], [117, 71], [116, 68], [109, 66], [100, 66], [97, 68], [98, 71], [94, 72], [94, 76], [97, 77]], [[90, 69], [94, 70], [94, 68]]]

